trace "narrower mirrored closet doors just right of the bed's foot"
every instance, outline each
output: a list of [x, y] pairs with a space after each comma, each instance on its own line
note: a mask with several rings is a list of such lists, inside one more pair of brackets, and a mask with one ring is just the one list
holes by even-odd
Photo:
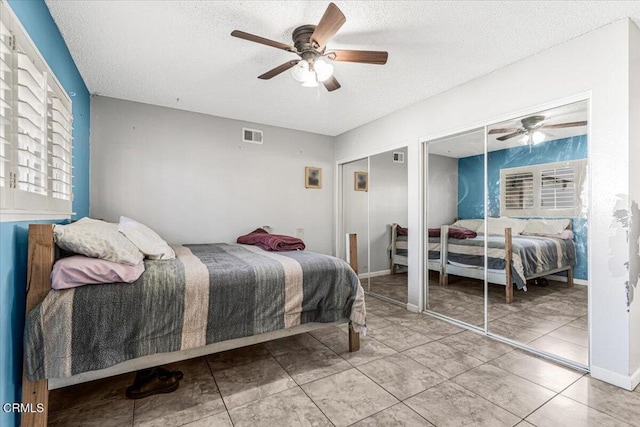
[[407, 149], [340, 165], [341, 257], [349, 259], [349, 234], [357, 234], [358, 275], [365, 291], [407, 303]]

